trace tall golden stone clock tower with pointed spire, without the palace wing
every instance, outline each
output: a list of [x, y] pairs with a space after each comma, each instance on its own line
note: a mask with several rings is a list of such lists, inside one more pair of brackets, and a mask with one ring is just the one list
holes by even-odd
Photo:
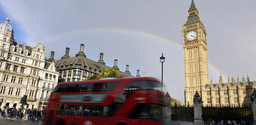
[[206, 29], [199, 19], [194, 0], [191, 2], [187, 14], [187, 22], [183, 25], [183, 49], [185, 63], [185, 105], [193, 104], [196, 91], [202, 97], [206, 93], [202, 91], [208, 84], [207, 38]]

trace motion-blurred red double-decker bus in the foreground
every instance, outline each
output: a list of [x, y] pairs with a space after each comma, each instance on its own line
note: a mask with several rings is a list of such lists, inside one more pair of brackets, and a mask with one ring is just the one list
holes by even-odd
[[44, 124], [161, 124], [161, 87], [151, 77], [62, 82], [50, 95]]

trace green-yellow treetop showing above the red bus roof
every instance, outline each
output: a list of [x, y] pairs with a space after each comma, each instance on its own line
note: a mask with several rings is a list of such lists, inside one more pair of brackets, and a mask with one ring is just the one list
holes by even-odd
[[98, 80], [103, 78], [123, 78], [122, 75], [119, 75], [116, 67], [112, 67], [110, 69], [103, 69], [99, 74], [95, 74], [92, 77], [88, 77], [88, 80]]

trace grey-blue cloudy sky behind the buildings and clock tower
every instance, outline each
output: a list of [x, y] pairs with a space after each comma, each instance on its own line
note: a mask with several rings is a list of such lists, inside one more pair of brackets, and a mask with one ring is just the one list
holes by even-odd
[[[104, 53], [107, 66], [136, 75], [161, 79], [159, 57], [164, 53], [164, 84], [171, 97], [184, 103], [184, 51], [182, 28], [191, 0], [0, 0], [0, 22], [8, 17], [14, 38], [30, 45], [42, 43], [55, 60], [80, 44], [87, 58], [98, 61]], [[256, 80], [256, 1], [194, 0], [207, 30], [209, 78], [219, 73]], [[146, 72], [146, 74], [143, 74]]]

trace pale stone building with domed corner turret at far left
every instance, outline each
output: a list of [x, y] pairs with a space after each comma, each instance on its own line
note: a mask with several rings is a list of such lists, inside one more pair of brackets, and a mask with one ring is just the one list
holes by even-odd
[[57, 84], [54, 52], [45, 60], [45, 46], [29, 46], [14, 39], [9, 19], [0, 24], [0, 100], [1, 106], [19, 108], [27, 95], [25, 108], [43, 108]]

